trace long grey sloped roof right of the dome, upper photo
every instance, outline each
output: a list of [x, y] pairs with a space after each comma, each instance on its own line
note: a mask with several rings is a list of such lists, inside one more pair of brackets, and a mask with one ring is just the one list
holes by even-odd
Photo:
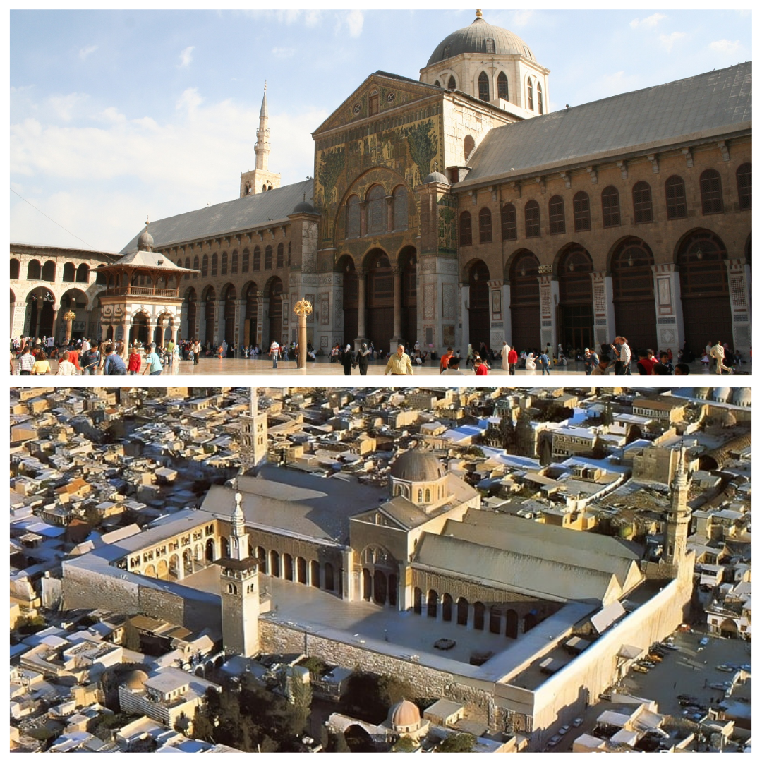
[[455, 187], [745, 129], [751, 129], [751, 61], [495, 127]]

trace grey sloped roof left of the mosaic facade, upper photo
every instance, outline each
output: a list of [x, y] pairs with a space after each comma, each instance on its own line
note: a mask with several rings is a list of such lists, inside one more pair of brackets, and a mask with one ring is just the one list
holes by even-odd
[[[248, 230], [267, 223], [283, 224], [293, 208], [304, 199], [312, 198], [312, 180], [283, 185], [272, 191], [251, 194], [232, 201], [216, 203], [192, 212], [165, 217], [151, 223], [154, 248], [213, 238], [240, 230]], [[140, 229], [120, 254], [136, 251]], [[146, 253], [146, 252], [142, 252]]]

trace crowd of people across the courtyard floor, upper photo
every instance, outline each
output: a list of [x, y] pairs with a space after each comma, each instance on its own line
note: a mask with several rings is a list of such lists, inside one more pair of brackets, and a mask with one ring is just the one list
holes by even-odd
[[[416, 341], [412, 346], [410, 342], [402, 342], [394, 354], [389, 354], [382, 349], [376, 349], [373, 341], [363, 342], [355, 351], [351, 344], [344, 347], [335, 344], [329, 353], [329, 361], [338, 363], [344, 368], [344, 375], [351, 376], [354, 369], [359, 370], [360, 376], [367, 375], [368, 365], [371, 362], [386, 362], [384, 373], [387, 375], [412, 375], [415, 367], [421, 367], [427, 362], [433, 363], [438, 360], [440, 373], [443, 375], [465, 375], [461, 368], [463, 357], [459, 350], [447, 347], [447, 351], [440, 357], [434, 353], [433, 347], [421, 346]], [[320, 354], [310, 342], [307, 343], [306, 360], [315, 362]], [[138, 373], [152, 376], [160, 375], [167, 370], [171, 373], [175, 362], [187, 360], [198, 365], [200, 357], [216, 358], [243, 358], [245, 360], [264, 359], [264, 356], [272, 360], [273, 367], [278, 367], [278, 362], [298, 360], [299, 344], [292, 341], [290, 344], [278, 344], [272, 341], [266, 353], [263, 353], [259, 344], [242, 345], [235, 347], [223, 339], [221, 342], [206, 341], [202, 344], [198, 339], [186, 339], [175, 343], [168, 340], [162, 344], [149, 344], [143, 347], [138, 341], [125, 346], [123, 341], [89, 341], [88, 338], [72, 339], [69, 342], [58, 344], [53, 337], [21, 337], [11, 341], [11, 374], [16, 376], [43, 376], [50, 374], [50, 360], [57, 360], [58, 376], [78, 375], [137, 375]], [[114, 359], [108, 360], [109, 357]], [[616, 376], [687, 376], [690, 373], [690, 363], [699, 360], [710, 372], [719, 374], [735, 373], [740, 370], [741, 364], [745, 363], [740, 351], [733, 350], [727, 342], [708, 341], [696, 357], [687, 348], [687, 342], [683, 349], [674, 357], [671, 349], [653, 351], [652, 349], [632, 350], [629, 341], [624, 336], [617, 336], [611, 344], [601, 344], [599, 349], [585, 347], [575, 349], [571, 346], [563, 347], [558, 344], [556, 351], [552, 351], [550, 344], [544, 349], [533, 348], [531, 350], [511, 347], [506, 341], [501, 349], [495, 350], [482, 341], [478, 347], [468, 345], [465, 358], [465, 371], [471, 371], [476, 376], [485, 376], [493, 367], [507, 371], [511, 376], [517, 370], [542, 373], [550, 375], [555, 367], [566, 367], [571, 363], [577, 363], [580, 370], [584, 367], [584, 373], [588, 376], [604, 376], [613, 374]], [[751, 363], [751, 350], [749, 351], [749, 363]]]

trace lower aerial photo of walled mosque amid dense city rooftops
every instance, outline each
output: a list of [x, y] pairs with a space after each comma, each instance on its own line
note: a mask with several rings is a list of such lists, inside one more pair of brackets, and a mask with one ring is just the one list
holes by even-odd
[[13, 751], [751, 751], [748, 387], [14, 386], [10, 495]]

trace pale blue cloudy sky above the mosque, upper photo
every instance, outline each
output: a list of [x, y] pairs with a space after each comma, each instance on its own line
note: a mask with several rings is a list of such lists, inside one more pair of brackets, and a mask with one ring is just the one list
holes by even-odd
[[[550, 110], [751, 59], [748, 10], [483, 13], [550, 69]], [[11, 241], [120, 251], [146, 216], [237, 198], [240, 173], [255, 167], [265, 80], [270, 169], [282, 184], [302, 181], [312, 130], [354, 88], [378, 69], [418, 79], [437, 44], [473, 19], [453, 9], [11, 11]]]

